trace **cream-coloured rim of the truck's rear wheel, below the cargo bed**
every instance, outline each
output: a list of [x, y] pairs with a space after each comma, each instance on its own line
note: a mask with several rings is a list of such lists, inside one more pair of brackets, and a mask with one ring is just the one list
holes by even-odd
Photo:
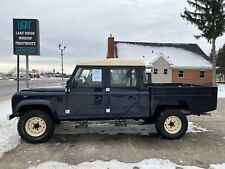
[[182, 122], [177, 116], [169, 116], [164, 121], [164, 129], [169, 134], [176, 134], [181, 130]]

